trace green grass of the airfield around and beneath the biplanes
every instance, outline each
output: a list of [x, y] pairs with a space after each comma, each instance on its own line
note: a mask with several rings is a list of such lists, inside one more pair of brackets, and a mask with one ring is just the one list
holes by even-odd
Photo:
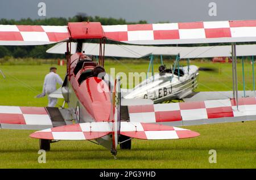
[[[123, 63], [123, 64], [122, 64]], [[143, 72], [146, 61], [106, 61], [106, 70]], [[185, 65], [185, 62], [183, 62]], [[231, 64], [193, 63], [214, 67], [216, 72], [200, 72], [197, 91], [231, 91]], [[47, 98], [35, 99], [42, 91], [44, 75], [51, 65], [0, 66], [0, 105], [46, 106]], [[63, 77], [65, 67], [57, 66]], [[157, 71], [158, 63], [154, 65]], [[242, 90], [241, 64], [238, 64]], [[247, 89], [252, 89], [250, 63], [245, 65]], [[225, 85], [224, 85], [225, 84]], [[58, 102], [59, 105], [62, 101]], [[181, 140], [133, 140], [130, 151], [118, 151], [114, 160], [108, 150], [86, 141], [61, 141], [51, 144], [46, 164], [39, 164], [38, 140], [28, 137], [34, 131], [0, 130], [0, 168], [256, 168], [256, 122], [186, 126], [201, 136]], [[217, 163], [208, 162], [209, 150], [217, 151]]]

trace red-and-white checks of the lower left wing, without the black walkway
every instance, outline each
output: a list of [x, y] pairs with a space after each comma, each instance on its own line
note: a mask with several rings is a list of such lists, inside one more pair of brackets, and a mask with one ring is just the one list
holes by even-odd
[[0, 106], [1, 124], [52, 126], [52, 121], [45, 108]]

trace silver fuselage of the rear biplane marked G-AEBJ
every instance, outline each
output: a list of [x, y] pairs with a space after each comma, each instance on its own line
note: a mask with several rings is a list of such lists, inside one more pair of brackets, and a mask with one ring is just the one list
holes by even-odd
[[[154, 76], [136, 85], [132, 91], [123, 93], [123, 98], [149, 98], [154, 103], [180, 100], [191, 94], [197, 87], [199, 68], [191, 65], [180, 67], [177, 73], [155, 73]], [[177, 69], [176, 71], [177, 72]]]

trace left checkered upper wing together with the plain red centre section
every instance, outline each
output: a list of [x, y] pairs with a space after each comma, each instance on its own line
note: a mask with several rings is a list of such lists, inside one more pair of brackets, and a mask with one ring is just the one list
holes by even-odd
[[55, 25], [0, 25], [0, 45], [43, 45], [69, 38], [103, 38], [98, 22], [68, 23]]

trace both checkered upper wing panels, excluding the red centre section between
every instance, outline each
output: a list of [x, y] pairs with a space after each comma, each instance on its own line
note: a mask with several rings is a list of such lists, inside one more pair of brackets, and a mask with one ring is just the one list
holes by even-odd
[[[134, 44], [181, 44], [256, 40], [256, 20], [102, 25], [105, 36]], [[0, 45], [39, 45], [69, 38], [67, 26], [0, 25]], [[16, 41], [16, 42], [15, 42]]]

